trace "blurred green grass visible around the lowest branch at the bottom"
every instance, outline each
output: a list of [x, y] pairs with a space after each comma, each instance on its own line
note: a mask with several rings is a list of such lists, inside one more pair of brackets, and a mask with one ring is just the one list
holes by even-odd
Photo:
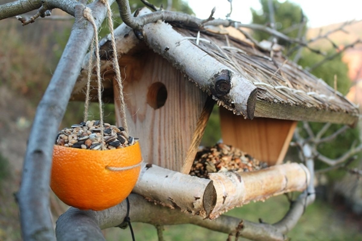
[[[227, 215], [258, 222], [274, 223], [280, 220], [289, 207], [284, 196], [270, 198], [265, 202], [249, 203], [241, 208], [235, 208]], [[133, 223], [136, 240], [157, 241], [155, 227], [150, 224]], [[132, 240], [130, 230], [112, 228], [104, 231], [108, 241]], [[165, 226], [164, 239], [166, 241], [198, 241], [198, 240], [226, 240], [227, 234], [210, 231], [191, 224]], [[288, 237], [291, 240], [310, 241], [340, 241], [362, 240], [362, 232], [358, 231], [355, 223], [350, 223], [343, 215], [338, 214], [327, 203], [317, 200], [306, 209], [299, 223]], [[239, 240], [243, 240], [239, 238]]]

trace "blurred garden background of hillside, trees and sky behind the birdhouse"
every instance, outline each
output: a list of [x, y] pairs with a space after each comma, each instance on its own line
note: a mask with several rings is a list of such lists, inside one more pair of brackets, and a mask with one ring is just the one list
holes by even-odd
[[[0, 0], [0, 4], [9, 2]], [[207, 18], [216, 6], [215, 17], [225, 18], [230, 12], [227, 0], [150, 0], [152, 4], [163, 4], [165, 9], [195, 14]], [[242, 23], [269, 23], [267, 0], [234, 0], [231, 19]], [[296, 38], [302, 27], [305, 40], [333, 31], [350, 20], [356, 20], [344, 27], [345, 31], [336, 31], [329, 39], [320, 39], [311, 44], [327, 55], [331, 60], [316, 66], [324, 59], [306, 49], [290, 53], [289, 58], [299, 65], [309, 68], [317, 77], [333, 86], [337, 76], [337, 88], [355, 103], [362, 101], [362, 44], [344, 50], [358, 39], [362, 39], [362, 22], [360, 10], [362, 3], [353, 0], [334, 1], [273, 1], [275, 9], [275, 26], [278, 31]], [[132, 9], [142, 6], [140, 1], [131, 0]], [[112, 6], [118, 14], [117, 6]], [[35, 12], [29, 13], [35, 14]], [[116, 14], [116, 15], [117, 15]], [[35, 23], [22, 26], [16, 18], [0, 22], [0, 241], [21, 240], [18, 220], [18, 208], [14, 201], [20, 185], [22, 162], [26, 150], [32, 120], [37, 104], [45, 91], [52, 72], [67, 43], [73, 24], [73, 17], [55, 9], [52, 16], [56, 19], [37, 19]], [[116, 17], [116, 26], [121, 20]], [[107, 34], [106, 28], [100, 36]], [[261, 32], [248, 30], [255, 39], [270, 39]], [[286, 44], [285, 54], [296, 46]], [[344, 50], [344, 51], [342, 51]], [[59, 90], [61, 91], [61, 90]], [[93, 110], [93, 111], [92, 111]], [[82, 120], [83, 102], [71, 102], [59, 127], [70, 126]], [[97, 119], [97, 105], [92, 103], [91, 112]], [[114, 106], [105, 105], [106, 122], [113, 123]], [[301, 125], [301, 124], [300, 124]], [[317, 132], [323, 125], [311, 123]], [[334, 133], [341, 126], [333, 125], [328, 134]], [[318, 146], [319, 151], [329, 158], [338, 158], [351, 146], [360, 142], [359, 128], [349, 129], [330, 143]], [[218, 108], [215, 107], [202, 141], [204, 146], [212, 146], [220, 139]], [[360, 154], [355, 157], [351, 167], [362, 168]], [[286, 160], [297, 160], [298, 152], [290, 148]], [[326, 168], [316, 162], [316, 169]], [[350, 175], [344, 170], [335, 169], [317, 175], [317, 201], [309, 206], [297, 226], [289, 233], [292, 240], [362, 240], [362, 185], [358, 175]], [[297, 194], [294, 195], [296, 197]], [[250, 203], [236, 208], [227, 215], [237, 216], [250, 221], [262, 219], [265, 222], [278, 221], [289, 208], [285, 196], [270, 198], [266, 202]], [[51, 197], [51, 212], [54, 223], [67, 206]], [[29, 220], [30, 221], [30, 220]], [[190, 235], [185, 237], [185, 231]], [[134, 224], [136, 240], [157, 240], [156, 229], [148, 224]], [[107, 240], [131, 240], [129, 230], [113, 228], [104, 231]], [[192, 235], [191, 235], [192, 234]], [[226, 240], [227, 234], [220, 234], [192, 225], [165, 227], [165, 240]]]

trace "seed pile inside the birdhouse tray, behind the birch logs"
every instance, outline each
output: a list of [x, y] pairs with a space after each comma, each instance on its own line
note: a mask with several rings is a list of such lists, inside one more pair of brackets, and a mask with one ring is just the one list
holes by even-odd
[[268, 167], [268, 164], [254, 159], [249, 154], [232, 146], [220, 143], [198, 151], [190, 175], [209, 178], [213, 172], [249, 172]]

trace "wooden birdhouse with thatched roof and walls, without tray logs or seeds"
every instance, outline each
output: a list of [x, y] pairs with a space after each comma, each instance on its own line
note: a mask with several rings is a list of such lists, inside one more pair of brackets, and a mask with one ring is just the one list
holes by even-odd
[[[223, 142], [271, 165], [282, 162], [296, 121], [353, 125], [358, 119], [357, 108], [324, 81], [280, 50], [231, 34], [236, 29], [157, 21], [143, 31], [143, 40], [125, 24], [115, 33], [129, 130], [140, 138], [145, 162], [189, 173], [215, 102]], [[100, 42], [103, 98], [114, 101], [120, 120], [109, 39]], [[84, 100], [87, 61], [73, 100]]]

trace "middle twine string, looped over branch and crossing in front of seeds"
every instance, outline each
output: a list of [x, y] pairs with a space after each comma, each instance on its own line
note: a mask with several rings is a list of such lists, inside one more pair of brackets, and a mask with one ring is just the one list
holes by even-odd
[[[96, 52], [96, 73], [97, 73], [97, 83], [98, 83], [98, 104], [99, 104], [99, 121], [101, 126], [101, 150], [104, 150], [104, 134], [103, 134], [103, 107], [102, 107], [102, 83], [101, 83], [101, 58], [99, 56], [99, 44], [98, 44], [98, 30], [96, 22], [94, 21], [94, 18], [92, 16], [92, 10], [90, 8], [85, 8], [83, 11], [83, 16], [92, 23], [93, 30], [94, 30], [94, 45], [96, 46], [97, 50]], [[88, 66], [90, 68], [90, 66]], [[88, 69], [89, 72], [89, 69]], [[88, 83], [90, 82], [90, 77], [88, 76]], [[87, 85], [88, 85], [87, 83]], [[88, 90], [87, 90], [88, 91]]]

